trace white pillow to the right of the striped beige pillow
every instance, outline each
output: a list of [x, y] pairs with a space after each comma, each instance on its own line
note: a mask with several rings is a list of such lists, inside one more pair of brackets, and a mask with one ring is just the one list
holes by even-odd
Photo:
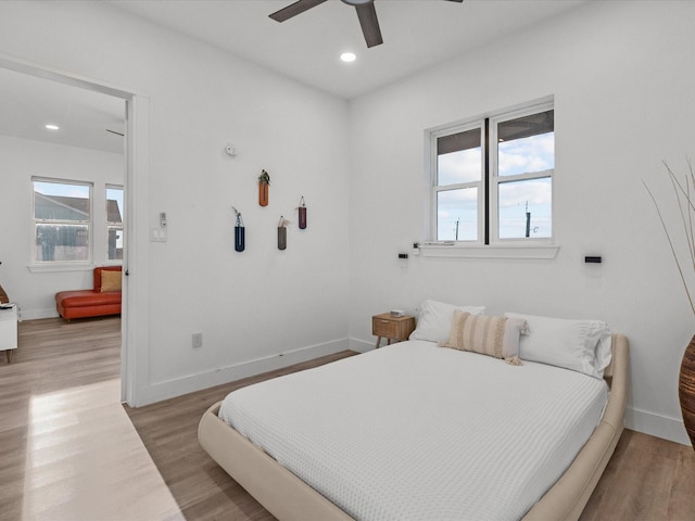
[[610, 330], [603, 320], [569, 320], [505, 313], [523, 318], [529, 334], [521, 336], [519, 358], [564, 367], [603, 378], [610, 363]]

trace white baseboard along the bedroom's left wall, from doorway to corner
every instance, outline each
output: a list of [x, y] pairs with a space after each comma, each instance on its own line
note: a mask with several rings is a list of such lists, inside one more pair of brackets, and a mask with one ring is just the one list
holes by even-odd
[[138, 389], [136, 392], [136, 403], [129, 405], [142, 407], [163, 399], [174, 398], [176, 396], [193, 393], [203, 389], [222, 385], [223, 383], [241, 380], [242, 378], [261, 374], [262, 372], [281, 369], [287, 366], [312, 360], [326, 355], [332, 355], [348, 348], [348, 339], [340, 339], [323, 344], [288, 351], [278, 355], [257, 358], [255, 360], [242, 361], [233, 366], [215, 369], [214, 371], [190, 374], [165, 382], [152, 383], [147, 387]]

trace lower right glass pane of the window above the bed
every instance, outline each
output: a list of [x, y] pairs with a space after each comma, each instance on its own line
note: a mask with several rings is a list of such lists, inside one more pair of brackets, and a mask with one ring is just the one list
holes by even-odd
[[500, 239], [553, 237], [549, 177], [498, 185]]

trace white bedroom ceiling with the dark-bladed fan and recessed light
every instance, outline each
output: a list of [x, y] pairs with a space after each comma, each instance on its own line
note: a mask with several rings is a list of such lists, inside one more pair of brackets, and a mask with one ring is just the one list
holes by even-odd
[[[367, 49], [355, 9], [328, 0], [278, 23], [294, 0], [110, 0], [304, 84], [351, 99], [586, 3], [376, 0], [383, 45]], [[339, 60], [352, 51], [351, 64]]]

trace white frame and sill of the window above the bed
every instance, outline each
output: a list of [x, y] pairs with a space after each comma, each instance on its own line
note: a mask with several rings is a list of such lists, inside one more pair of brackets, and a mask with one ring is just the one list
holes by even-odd
[[[545, 112], [555, 109], [555, 102], [553, 97], [547, 97], [542, 100], [535, 100], [529, 103], [509, 107], [503, 111], [495, 111], [494, 113], [484, 114], [463, 122], [453, 123], [445, 126], [439, 126], [431, 129], [427, 129], [426, 134], [426, 165], [429, 169], [429, 192], [428, 202], [430, 205], [429, 211], [429, 240], [419, 244], [419, 252], [424, 256], [444, 256], [444, 257], [502, 257], [502, 258], [555, 258], [559, 246], [555, 244], [556, 233], [556, 200], [555, 200], [555, 169], [547, 175], [547, 170], [540, 175], [521, 174], [514, 176], [497, 175], [497, 124], [531, 115], [540, 112]], [[488, 124], [488, 129], [484, 125]], [[478, 240], [477, 241], [438, 241], [438, 207], [437, 207], [437, 194], [445, 189], [453, 189], [467, 186], [476, 186], [476, 182], [452, 185], [440, 187], [437, 185], [437, 167], [438, 167], [438, 153], [437, 153], [437, 139], [442, 136], [450, 136], [453, 134], [470, 130], [481, 126], [482, 140], [484, 143], [485, 132], [488, 134], [489, 143], [491, 143], [488, 158], [486, 174], [484, 171], [484, 145], [481, 166], [481, 181], [478, 190]], [[497, 201], [497, 188], [501, 182], [520, 181], [526, 179], [539, 179], [551, 177], [552, 186], [552, 234], [548, 238], [508, 238], [500, 239], [498, 229], [498, 201]], [[488, 204], [488, 207], [485, 207]], [[484, 219], [485, 213], [488, 214], [489, 237], [485, 243], [484, 237]], [[427, 227], [426, 227], [427, 228]]]

